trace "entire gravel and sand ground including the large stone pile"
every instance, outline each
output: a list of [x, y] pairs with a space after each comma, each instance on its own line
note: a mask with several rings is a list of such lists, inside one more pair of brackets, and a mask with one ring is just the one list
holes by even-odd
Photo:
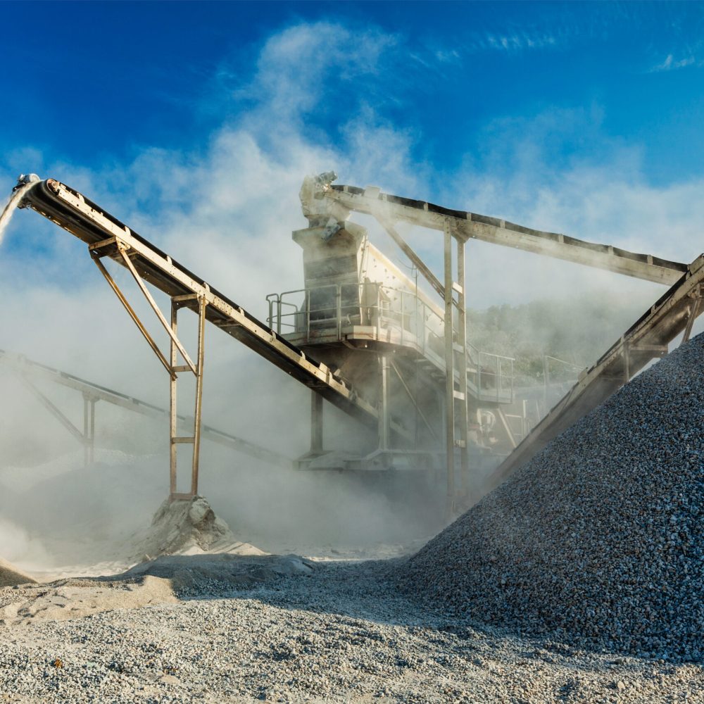
[[420, 552], [291, 529], [265, 547], [308, 557], [270, 555], [200, 497], [134, 532], [65, 491], [93, 467], [34, 479], [61, 513], [14, 534], [46, 571], [0, 561], [0, 703], [704, 703], [703, 372], [700, 336]]

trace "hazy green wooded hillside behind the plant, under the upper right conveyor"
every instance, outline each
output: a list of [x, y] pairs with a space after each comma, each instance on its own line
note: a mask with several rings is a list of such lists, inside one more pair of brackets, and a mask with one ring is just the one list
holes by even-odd
[[[467, 337], [485, 352], [514, 357], [517, 375], [543, 379], [543, 355], [579, 367], [595, 362], [643, 313], [642, 301], [608, 294], [467, 310]], [[563, 373], [567, 372], [565, 369]], [[551, 367], [558, 380], [559, 365]]]

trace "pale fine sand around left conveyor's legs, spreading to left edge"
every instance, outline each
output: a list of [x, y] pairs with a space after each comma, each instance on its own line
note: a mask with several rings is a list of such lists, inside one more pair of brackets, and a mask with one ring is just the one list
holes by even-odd
[[315, 569], [313, 562], [296, 555], [268, 555], [237, 541], [202, 496], [165, 501], [151, 526], [133, 537], [127, 548], [141, 550], [142, 562], [113, 576], [68, 577], [36, 584], [0, 560], [0, 629], [177, 603], [180, 598], [309, 575]]

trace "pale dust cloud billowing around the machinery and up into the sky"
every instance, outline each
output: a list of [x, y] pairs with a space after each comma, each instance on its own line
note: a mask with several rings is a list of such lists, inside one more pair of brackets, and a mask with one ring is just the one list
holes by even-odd
[[[346, 70], [355, 61], [359, 70], [367, 70], [368, 56], [362, 51], [331, 59], [329, 46], [339, 46], [334, 27], [308, 31], [305, 64], [295, 56], [284, 62], [291, 75], [308, 76], [325, 66], [332, 76], [336, 66]], [[279, 39], [272, 37], [263, 55], [279, 56]], [[585, 171], [574, 165], [567, 172], [548, 170], [542, 168], [549, 160], [541, 156], [539, 140], [527, 150], [539, 163], [513, 168], [511, 158], [497, 160], [512, 164], [509, 175], [490, 162], [470, 168], [470, 155], [456, 173], [434, 174], [414, 156], [413, 137], [394, 131], [368, 106], [352, 110], [339, 138], [310, 137], [302, 126], [306, 111], [324, 103], [329, 79], [308, 76], [309, 94], [301, 106], [297, 80], [277, 78], [279, 63], [258, 65], [263, 75], [258, 75], [251, 109], [239, 120], [224, 122], [197, 152], [146, 148], [130, 163], [111, 161], [89, 170], [46, 163], [41, 153], [25, 150], [23, 159], [31, 163], [15, 163], [10, 156], [0, 161], [0, 191], [11, 189], [15, 169], [56, 177], [260, 320], [267, 315], [266, 294], [302, 287], [301, 251], [290, 239], [291, 230], [306, 227], [298, 190], [304, 176], [330, 168], [343, 175], [341, 182], [375, 184], [392, 194], [450, 208], [670, 258], [690, 260], [696, 254], [689, 251], [691, 232], [697, 231], [701, 213], [696, 208], [702, 206], [697, 205], [700, 199], [689, 197], [691, 188], [658, 191], [644, 186], [641, 177], [619, 179], [614, 176], [620, 172], [617, 160], [601, 169], [590, 165]], [[522, 140], [532, 139], [530, 130], [523, 132], [495, 132], [491, 139], [494, 146], [513, 144], [520, 151]], [[536, 172], [548, 172], [549, 177], [536, 178]], [[168, 377], [84, 245], [36, 213], [25, 212], [9, 224], [12, 210], [3, 216], [7, 237], [0, 251], [0, 348], [168, 406]], [[648, 235], [644, 218], [667, 222], [665, 249]], [[441, 270], [441, 235], [420, 229], [403, 234], [429, 265]], [[370, 238], [395, 263], [408, 264], [379, 227], [370, 227]], [[483, 243], [471, 242], [467, 256], [467, 300], [473, 308], [590, 296], [593, 291], [607, 291], [614, 305], [642, 294], [649, 305], [664, 291]], [[120, 268], [113, 273], [165, 349], [165, 334], [128, 273]], [[156, 298], [166, 309], [167, 299]], [[193, 350], [195, 316], [182, 315], [180, 334]], [[81, 432], [80, 394], [51, 384], [38, 386]], [[182, 413], [192, 412], [189, 390], [184, 382]], [[10, 400], [0, 404], [0, 555], [46, 572], [65, 568], [75, 573], [91, 565], [96, 572], [113, 570], [124, 560], [124, 546], [134, 531], [149, 524], [168, 493], [165, 422], [99, 402], [96, 454], [84, 466], [82, 446], [36, 394], [5, 373], [0, 374], [0, 394]], [[308, 389], [226, 334], [206, 330], [206, 424], [293, 459], [308, 450], [309, 408]], [[369, 432], [355, 421], [327, 404], [325, 413], [326, 448], [372, 446]], [[182, 463], [180, 480], [187, 482], [188, 472]], [[411, 472], [382, 476], [282, 470], [203, 441], [201, 494], [238, 539], [267, 551], [361, 557], [408, 550], [442, 527], [427, 482], [437, 485], [443, 479]]]

